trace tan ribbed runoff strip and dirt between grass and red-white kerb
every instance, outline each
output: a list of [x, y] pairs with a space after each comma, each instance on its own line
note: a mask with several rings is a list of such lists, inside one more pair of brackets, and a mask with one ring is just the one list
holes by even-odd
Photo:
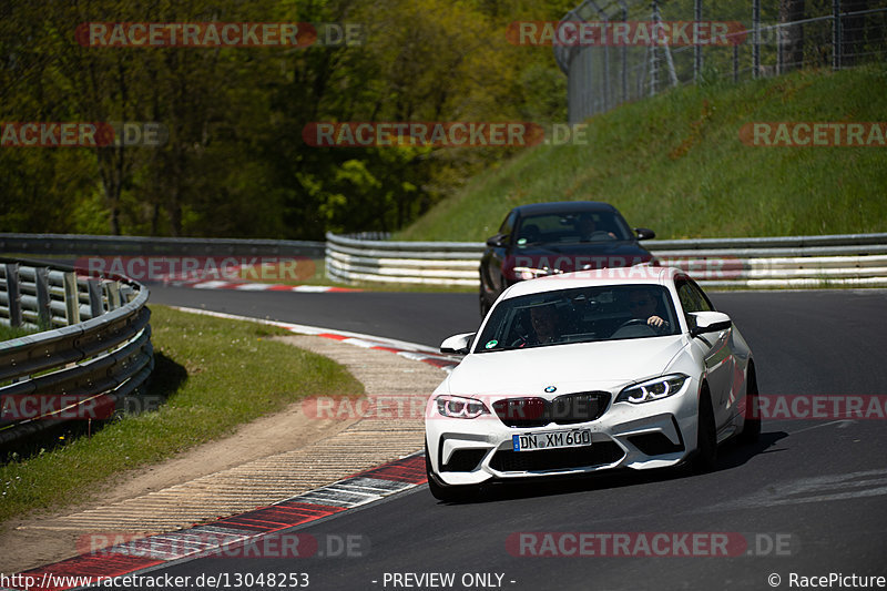
[[[408, 397], [402, 408], [411, 404], [415, 409], [416, 397], [427, 398], [445, 377], [437, 367], [385, 350], [316, 336], [276, 338], [344, 365], [364, 384], [367, 397]], [[75, 556], [83, 536], [187, 528], [274, 503], [422, 449], [421, 411], [404, 418], [391, 416], [398, 412], [360, 418], [349, 412], [359, 405], [346, 404], [332, 407], [336, 419], [322, 419], [312, 408], [296, 403], [242, 426], [231, 437], [128, 472], [106, 485], [100, 501], [9, 523], [0, 534], [0, 572]]]

